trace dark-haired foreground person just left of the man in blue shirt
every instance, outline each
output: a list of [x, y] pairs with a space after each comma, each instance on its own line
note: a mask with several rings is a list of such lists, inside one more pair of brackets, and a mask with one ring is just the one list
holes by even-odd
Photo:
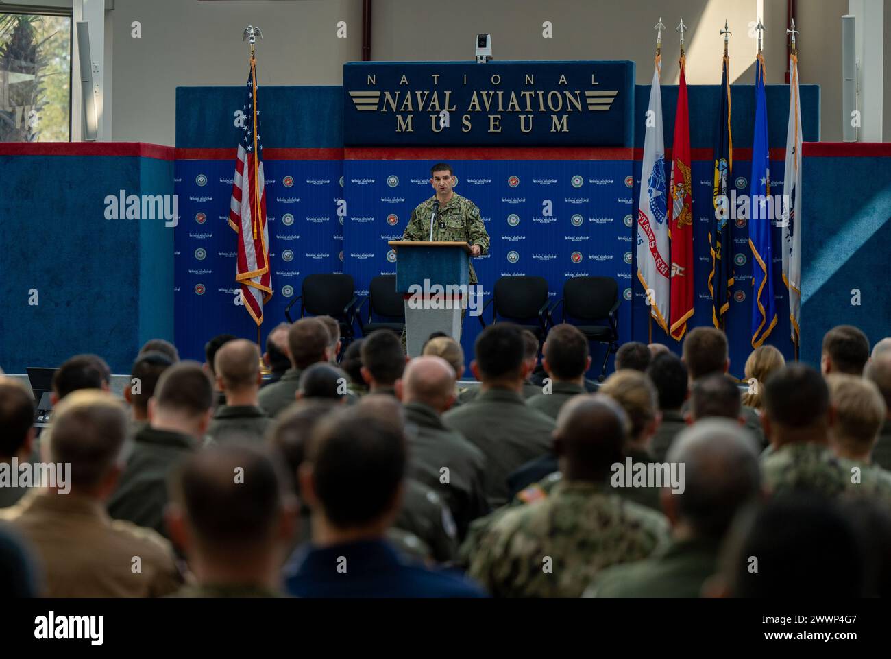
[[171, 479], [166, 518], [196, 583], [176, 597], [280, 597], [296, 509], [273, 461], [251, 446], [188, 457]]

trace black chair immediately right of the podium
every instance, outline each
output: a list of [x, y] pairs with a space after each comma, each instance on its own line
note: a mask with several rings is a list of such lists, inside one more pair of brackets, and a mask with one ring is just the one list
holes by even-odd
[[544, 342], [548, 333], [547, 311], [551, 304], [548, 298], [548, 283], [540, 276], [503, 276], [495, 282], [492, 297], [479, 312], [479, 324], [486, 327], [483, 316], [486, 307], [492, 307], [493, 325], [501, 317], [530, 330]]

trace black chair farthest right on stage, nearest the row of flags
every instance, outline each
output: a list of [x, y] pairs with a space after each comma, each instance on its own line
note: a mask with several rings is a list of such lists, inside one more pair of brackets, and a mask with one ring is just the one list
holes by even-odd
[[[618, 284], [608, 276], [576, 276], [563, 284], [563, 297], [548, 309], [548, 321], [553, 325], [553, 313], [562, 305], [563, 320], [575, 318], [584, 325], [576, 325], [588, 341], [606, 343], [607, 352], [598, 380], [603, 382], [609, 355], [618, 350]], [[607, 325], [590, 325], [597, 321]], [[574, 324], [575, 325], [575, 324]]]

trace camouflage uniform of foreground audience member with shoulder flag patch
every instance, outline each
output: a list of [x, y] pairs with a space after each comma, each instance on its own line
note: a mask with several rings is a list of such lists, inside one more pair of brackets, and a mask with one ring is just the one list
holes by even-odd
[[664, 515], [601, 484], [564, 480], [549, 497], [495, 520], [468, 573], [495, 597], [579, 597], [601, 569], [646, 558], [667, 542]]

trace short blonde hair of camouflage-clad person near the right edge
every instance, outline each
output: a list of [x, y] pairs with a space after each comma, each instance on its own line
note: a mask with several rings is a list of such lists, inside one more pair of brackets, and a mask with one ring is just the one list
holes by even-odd
[[885, 399], [871, 380], [856, 375], [830, 374], [830, 407], [836, 422], [830, 429], [838, 443], [852, 449], [871, 448], [885, 423]]

